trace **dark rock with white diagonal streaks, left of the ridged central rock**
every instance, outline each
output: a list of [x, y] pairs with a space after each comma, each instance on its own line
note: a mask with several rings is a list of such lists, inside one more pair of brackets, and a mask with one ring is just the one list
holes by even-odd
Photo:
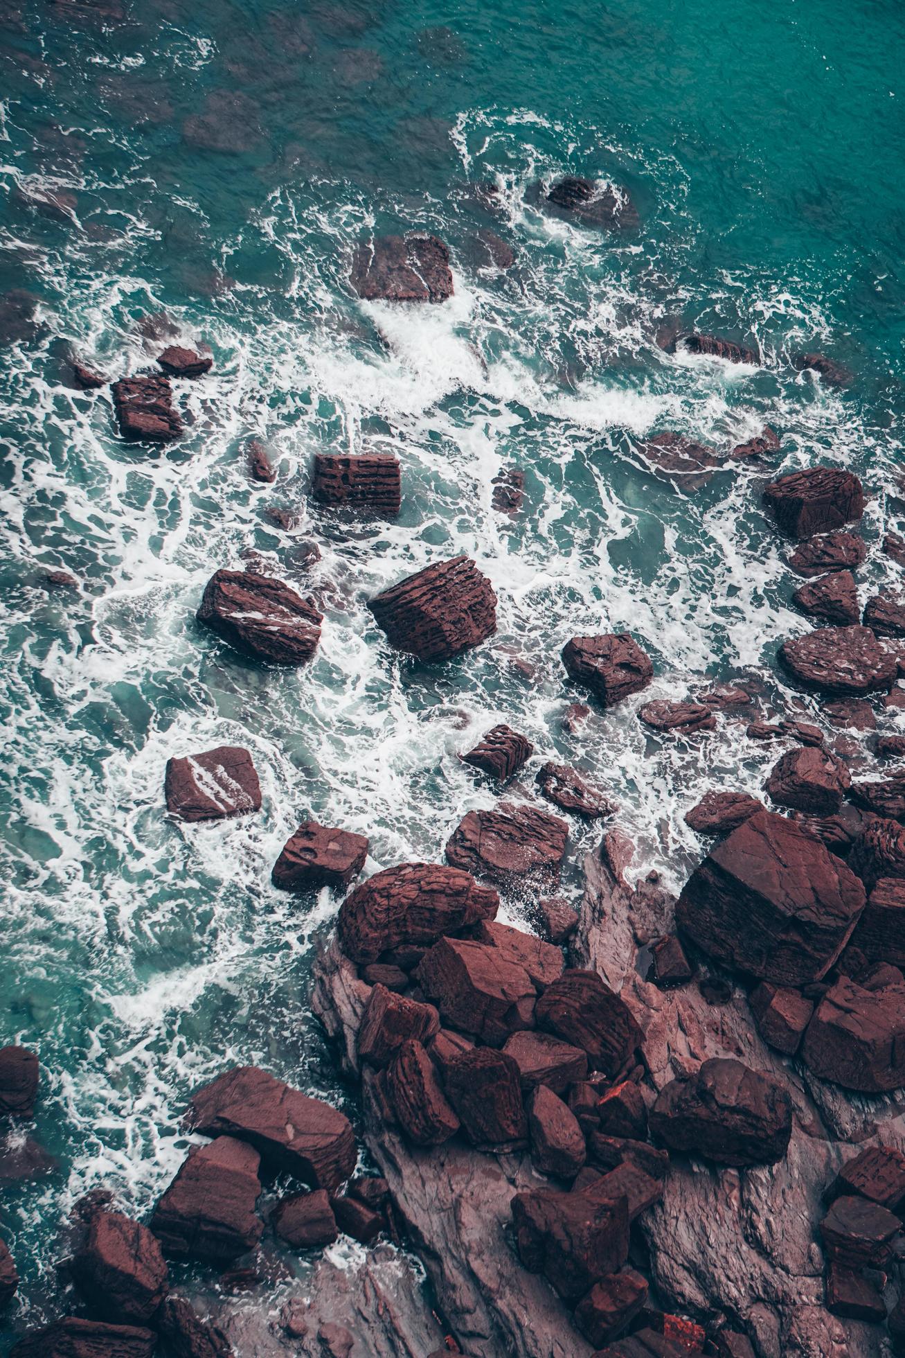
[[282, 580], [254, 570], [214, 572], [195, 617], [236, 650], [273, 665], [311, 660], [323, 621], [315, 606]]

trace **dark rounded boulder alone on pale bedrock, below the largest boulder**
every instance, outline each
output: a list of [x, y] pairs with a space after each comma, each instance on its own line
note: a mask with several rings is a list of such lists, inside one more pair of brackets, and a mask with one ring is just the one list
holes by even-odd
[[788, 1148], [792, 1105], [776, 1080], [741, 1061], [714, 1058], [661, 1089], [650, 1130], [670, 1150], [720, 1165], [772, 1165]]

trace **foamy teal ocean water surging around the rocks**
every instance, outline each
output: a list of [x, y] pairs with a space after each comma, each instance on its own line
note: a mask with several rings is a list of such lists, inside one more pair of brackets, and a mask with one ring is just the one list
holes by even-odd
[[[368, 870], [440, 858], [494, 801], [457, 752], [505, 720], [605, 788], [638, 870], [678, 887], [700, 856], [684, 811], [711, 785], [757, 792], [776, 751], [727, 720], [654, 739], [642, 699], [570, 736], [583, 695], [562, 645], [631, 629], [655, 660], [646, 698], [756, 678], [764, 713], [790, 710], [775, 653], [807, 623], [760, 509], [771, 470], [858, 471], [871, 545], [905, 516], [901, 5], [125, 3], [109, 23], [0, 8], [0, 293], [37, 306], [24, 334], [0, 306], [0, 1043], [39, 1052], [27, 1131], [58, 1161], [0, 1183], [23, 1277], [3, 1353], [61, 1305], [81, 1194], [149, 1211], [193, 1085], [254, 1061], [347, 1101], [307, 1005], [338, 900], [270, 885], [299, 819], [366, 832]], [[564, 172], [628, 189], [640, 228], [545, 215], [536, 185]], [[35, 210], [47, 190], [72, 206]], [[487, 227], [512, 270], [482, 263]], [[408, 228], [448, 242], [455, 297], [360, 301], [355, 242]], [[657, 337], [676, 323], [756, 341], [763, 365], [672, 356]], [[161, 325], [214, 356], [175, 384], [187, 429], [166, 451], [123, 444], [109, 388], [75, 391], [66, 365], [141, 371]], [[852, 387], [794, 371], [802, 348]], [[722, 449], [765, 422], [772, 467], [696, 494], [632, 443], [676, 429]], [[250, 436], [274, 486], [247, 478]], [[402, 460], [392, 524], [308, 504], [313, 452], [365, 447]], [[491, 483], [512, 464], [526, 497], [509, 519]], [[304, 669], [194, 623], [210, 573], [250, 549], [326, 614]], [[446, 665], [392, 653], [366, 600], [460, 551], [494, 583], [498, 636]], [[80, 591], [49, 592], [47, 569]], [[872, 553], [864, 596], [897, 574]], [[167, 758], [220, 743], [252, 751], [262, 812], [172, 823]], [[597, 835], [574, 824], [567, 895]]]

